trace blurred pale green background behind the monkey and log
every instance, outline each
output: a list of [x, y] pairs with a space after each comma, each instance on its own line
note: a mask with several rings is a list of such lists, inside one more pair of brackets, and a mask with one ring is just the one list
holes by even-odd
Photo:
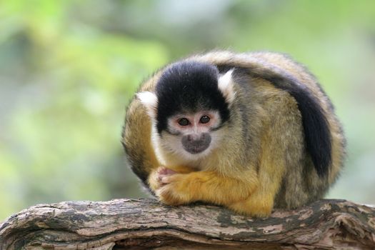
[[336, 106], [348, 160], [329, 197], [375, 204], [375, 1], [0, 2], [0, 221], [39, 203], [146, 196], [120, 144], [153, 71], [209, 49], [281, 51]]

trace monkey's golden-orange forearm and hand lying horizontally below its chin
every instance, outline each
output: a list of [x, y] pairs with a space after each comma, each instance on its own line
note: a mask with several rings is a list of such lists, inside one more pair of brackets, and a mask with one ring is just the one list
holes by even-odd
[[169, 205], [207, 201], [229, 206], [246, 199], [259, 185], [255, 171], [241, 173], [241, 179], [222, 176], [214, 171], [194, 171], [165, 176], [161, 183], [164, 186], [156, 190], [156, 195]]

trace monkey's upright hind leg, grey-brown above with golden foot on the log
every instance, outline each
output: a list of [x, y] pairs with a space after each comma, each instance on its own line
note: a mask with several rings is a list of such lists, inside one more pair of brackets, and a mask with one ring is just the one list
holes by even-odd
[[[285, 181], [294, 179], [298, 185], [301, 180], [301, 159], [304, 155], [304, 136], [301, 118], [292, 99], [280, 99], [280, 109], [273, 110], [272, 120], [264, 126], [261, 137], [261, 155], [259, 156], [259, 188], [243, 201], [229, 206], [241, 214], [268, 216], [274, 207], [275, 196]], [[290, 184], [289, 184], [290, 185]], [[298, 189], [298, 186], [288, 190]], [[293, 196], [291, 194], [291, 196]], [[297, 198], [295, 198], [297, 199]]]

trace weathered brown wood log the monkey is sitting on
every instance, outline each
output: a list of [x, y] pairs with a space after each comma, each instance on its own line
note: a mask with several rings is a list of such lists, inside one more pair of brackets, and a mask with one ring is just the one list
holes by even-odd
[[269, 218], [154, 199], [31, 206], [0, 224], [0, 249], [375, 249], [375, 208], [321, 200]]

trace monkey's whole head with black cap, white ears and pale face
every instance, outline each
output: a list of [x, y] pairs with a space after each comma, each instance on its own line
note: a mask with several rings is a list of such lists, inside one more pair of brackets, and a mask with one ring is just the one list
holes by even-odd
[[163, 71], [155, 92], [137, 94], [161, 149], [199, 159], [215, 148], [223, 139], [220, 130], [230, 119], [234, 101], [231, 72], [220, 75], [211, 64], [181, 61]]

